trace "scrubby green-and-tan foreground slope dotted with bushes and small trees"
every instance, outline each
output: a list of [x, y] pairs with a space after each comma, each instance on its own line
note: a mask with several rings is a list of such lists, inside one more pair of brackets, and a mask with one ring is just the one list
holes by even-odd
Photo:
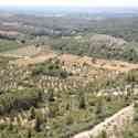
[[1, 57], [1, 137], [6, 132], [9, 138], [20, 137], [17, 129], [22, 137], [72, 138], [131, 103], [131, 94], [137, 91], [135, 74], [104, 68], [92, 59], [70, 56], [22, 67], [11, 64], [17, 59]]

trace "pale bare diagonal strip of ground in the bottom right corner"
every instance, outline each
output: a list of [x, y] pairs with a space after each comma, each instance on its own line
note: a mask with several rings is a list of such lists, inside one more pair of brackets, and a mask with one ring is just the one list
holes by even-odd
[[126, 126], [129, 126], [132, 123], [132, 119], [134, 105], [130, 105], [95, 126], [92, 130], [81, 132], [73, 138], [96, 138], [103, 131], [107, 134], [107, 138], [121, 138], [121, 132]]

